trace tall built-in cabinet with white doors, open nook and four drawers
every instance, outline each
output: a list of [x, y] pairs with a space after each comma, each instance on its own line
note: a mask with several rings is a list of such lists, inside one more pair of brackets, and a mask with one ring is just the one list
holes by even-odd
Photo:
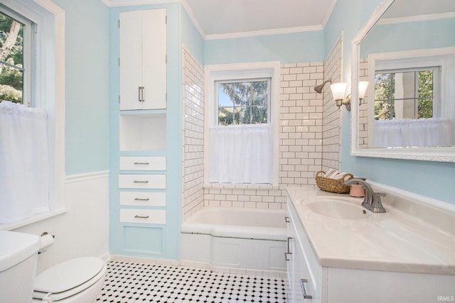
[[178, 202], [168, 195], [175, 190], [169, 182], [175, 172], [168, 170], [172, 113], [166, 100], [166, 14], [166, 9], [119, 12], [118, 109], [112, 104], [118, 136], [112, 138], [109, 228], [115, 255], [176, 258], [172, 213]]

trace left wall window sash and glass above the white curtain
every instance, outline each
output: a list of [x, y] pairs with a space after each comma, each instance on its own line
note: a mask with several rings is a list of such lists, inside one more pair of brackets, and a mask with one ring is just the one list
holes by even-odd
[[31, 106], [34, 24], [0, 6], [0, 99]]

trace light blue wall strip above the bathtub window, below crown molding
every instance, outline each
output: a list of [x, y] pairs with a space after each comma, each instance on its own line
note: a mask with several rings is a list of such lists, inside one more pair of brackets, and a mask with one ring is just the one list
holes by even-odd
[[323, 58], [323, 31], [205, 40], [204, 46], [205, 65], [321, 62]]

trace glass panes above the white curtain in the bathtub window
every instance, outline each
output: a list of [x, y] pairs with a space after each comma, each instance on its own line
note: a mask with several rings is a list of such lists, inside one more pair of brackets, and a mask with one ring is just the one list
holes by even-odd
[[218, 125], [269, 121], [270, 78], [218, 81]]

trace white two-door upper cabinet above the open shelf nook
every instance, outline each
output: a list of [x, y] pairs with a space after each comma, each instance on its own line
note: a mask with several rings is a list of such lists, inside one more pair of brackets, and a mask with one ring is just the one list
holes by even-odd
[[120, 109], [166, 109], [166, 9], [119, 14]]

